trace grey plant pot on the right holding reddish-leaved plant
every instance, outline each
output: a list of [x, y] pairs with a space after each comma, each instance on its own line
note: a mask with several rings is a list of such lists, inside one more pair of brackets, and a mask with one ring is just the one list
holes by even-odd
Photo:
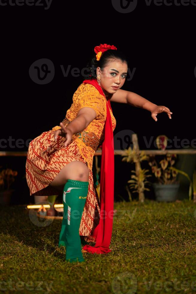
[[157, 184], [153, 183], [155, 196], [157, 201], [172, 202], [177, 199], [177, 192], [180, 183], [176, 184]]

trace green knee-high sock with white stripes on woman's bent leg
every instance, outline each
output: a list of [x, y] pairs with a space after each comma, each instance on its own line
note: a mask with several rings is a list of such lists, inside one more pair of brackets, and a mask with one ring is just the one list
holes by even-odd
[[63, 189], [64, 216], [59, 246], [66, 247], [66, 260], [85, 261], [81, 251], [79, 227], [88, 194], [88, 182], [68, 179]]

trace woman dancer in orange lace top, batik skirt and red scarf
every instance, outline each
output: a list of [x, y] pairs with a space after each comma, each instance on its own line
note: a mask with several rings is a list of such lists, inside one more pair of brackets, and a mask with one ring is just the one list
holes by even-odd
[[[66, 260], [70, 262], [85, 261], [82, 237], [87, 242], [96, 241], [94, 247], [85, 245], [85, 252], [111, 251], [116, 120], [110, 101], [149, 110], [155, 121], [161, 112], [168, 113], [171, 118], [167, 107], [120, 89], [128, 70], [128, 61], [122, 52], [108, 44], [96, 46], [94, 52], [88, 66], [89, 77], [75, 91], [64, 120], [60, 126], [30, 142], [26, 161], [30, 195], [63, 194], [64, 217], [59, 246], [66, 247]], [[92, 171], [93, 156], [99, 147], [102, 147], [100, 202]]]

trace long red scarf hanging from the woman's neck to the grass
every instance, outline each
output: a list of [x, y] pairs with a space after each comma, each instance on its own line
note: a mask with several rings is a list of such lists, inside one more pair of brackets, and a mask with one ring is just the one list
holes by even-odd
[[[101, 86], [99, 86], [97, 79], [87, 79], [83, 83], [94, 85], [101, 95], [104, 95]], [[107, 99], [107, 98], [106, 98]], [[114, 213], [114, 137], [111, 122], [110, 100], [107, 100], [107, 116], [105, 121], [105, 138], [102, 143], [101, 155], [101, 181], [100, 181], [100, 220], [98, 226], [94, 229], [92, 237], [95, 238], [95, 246], [85, 245], [84, 250], [90, 253], [109, 253], [113, 213]], [[111, 109], [112, 111], [112, 109]]]

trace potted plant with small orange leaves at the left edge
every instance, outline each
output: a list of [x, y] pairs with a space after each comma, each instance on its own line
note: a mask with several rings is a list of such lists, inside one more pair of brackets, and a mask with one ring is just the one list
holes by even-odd
[[11, 195], [14, 189], [11, 189], [12, 183], [15, 181], [17, 171], [13, 171], [9, 168], [1, 170], [0, 172], [0, 204], [9, 205]]

